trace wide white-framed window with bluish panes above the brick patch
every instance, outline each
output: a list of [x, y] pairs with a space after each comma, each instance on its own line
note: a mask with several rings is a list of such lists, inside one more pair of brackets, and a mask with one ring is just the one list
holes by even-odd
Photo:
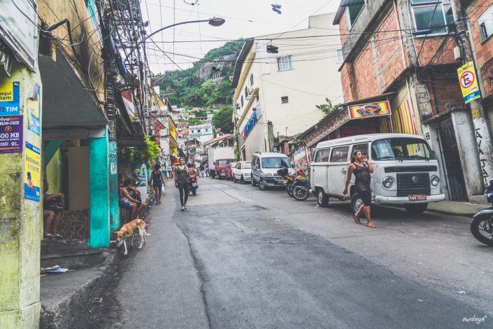
[[450, 0], [411, 0], [416, 31], [431, 29], [429, 34], [447, 33], [448, 27], [454, 21], [450, 9]]

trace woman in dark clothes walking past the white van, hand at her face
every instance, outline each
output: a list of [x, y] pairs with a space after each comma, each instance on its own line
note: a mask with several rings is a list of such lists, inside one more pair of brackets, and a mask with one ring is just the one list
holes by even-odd
[[363, 155], [361, 152], [356, 151], [352, 154], [351, 164], [348, 167], [348, 178], [345, 181], [345, 188], [343, 191], [343, 195], [348, 194], [348, 186], [351, 181], [352, 174], [355, 174], [355, 188], [359, 196], [363, 200], [362, 207], [359, 207], [356, 214], [352, 215], [352, 219], [355, 223], [360, 224], [359, 216], [364, 213], [366, 217], [366, 226], [369, 228], [375, 228], [375, 224], [371, 221], [371, 176], [373, 173], [373, 167], [369, 160]]

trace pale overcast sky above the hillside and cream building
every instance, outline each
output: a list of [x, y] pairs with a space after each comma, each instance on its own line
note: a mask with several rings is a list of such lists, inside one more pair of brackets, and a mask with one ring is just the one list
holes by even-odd
[[[186, 3], [185, 3], [186, 1]], [[142, 0], [143, 19], [149, 20], [148, 33], [173, 22], [221, 17], [226, 20], [220, 27], [211, 27], [207, 23], [193, 23], [166, 29], [152, 39], [182, 69], [192, 66], [197, 59], [174, 55], [184, 54], [203, 57], [208, 50], [223, 45], [225, 41], [250, 36], [262, 36], [282, 31], [308, 27], [308, 16], [333, 13], [337, 10], [339, 0]], [[272, 10], [271, 3], [281, 5], [282, 14]], [[174, 9], [173, 9], [174, 6]], [[174, 15], [174, 18], [173, 18]], [[334, 26], [334, 31], [338, 27]], [[321, 34], [327, 31], [321, 31]], [[202, 42], [200, 42], [202, 40]], [[161, 43], [167, 41], [166, 43]], [[182, 42], [180, 42], [182, 41]], [[194, 41], [194, 42], [183, 42]], [[157, 48], [148, 43], [148, 47]], [[151, 70], [162, 73], [178, 69], [161, 51], [148, 51]]]

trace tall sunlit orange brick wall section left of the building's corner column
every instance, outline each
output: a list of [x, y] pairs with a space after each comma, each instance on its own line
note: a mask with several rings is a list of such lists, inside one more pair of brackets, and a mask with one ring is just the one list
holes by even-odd
[[392, 32], [377, 33], [373, 37], [377, 50], [378, 71], [380, 72], [382, 90], [387, 89], [404, 70], [401, 34], [396, 31], [398, 29], [399, 22], [394, 9], [392, 9], [378, 28], [378, 31]]

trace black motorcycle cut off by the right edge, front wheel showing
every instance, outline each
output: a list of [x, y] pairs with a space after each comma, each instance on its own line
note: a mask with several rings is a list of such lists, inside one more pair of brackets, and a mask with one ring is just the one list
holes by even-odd
[[473, 216], [471, 233], [483, 244], [493, 246], [493, 179], [486, 184], [484, 194], [487, 202], [492, 203], [492, 207]]

